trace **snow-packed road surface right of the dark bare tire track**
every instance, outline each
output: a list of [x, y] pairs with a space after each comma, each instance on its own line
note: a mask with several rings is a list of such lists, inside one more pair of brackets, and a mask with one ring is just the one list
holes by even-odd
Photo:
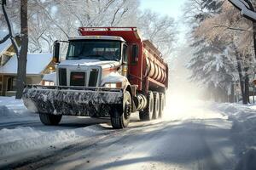
[[143, 125], [42, 169], [232, 169], [228, 129], [216, 121]]

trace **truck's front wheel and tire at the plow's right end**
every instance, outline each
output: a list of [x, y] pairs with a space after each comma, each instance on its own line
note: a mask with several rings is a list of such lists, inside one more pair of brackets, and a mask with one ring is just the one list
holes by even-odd
[[128, 127], [131, 116], [131, 94], [128, 91], [125, 91], [124, 101], [123, 101], [123, 113], [120, 115], [119, 110], [113, 108], [111, 114], [111, 124], [115, 129]]

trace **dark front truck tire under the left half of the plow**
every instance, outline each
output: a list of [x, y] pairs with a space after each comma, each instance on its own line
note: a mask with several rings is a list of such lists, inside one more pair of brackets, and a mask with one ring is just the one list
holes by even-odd
[[51, 115], [45, 113], [39, 113], [40, 121], [44, 125], [58, 125], [61, 122], [62, 115]]

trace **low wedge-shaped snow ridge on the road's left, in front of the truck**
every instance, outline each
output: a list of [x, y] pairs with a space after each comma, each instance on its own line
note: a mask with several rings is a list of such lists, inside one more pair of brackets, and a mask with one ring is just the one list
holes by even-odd
[[90, 139], [90, 137], [109, 133], [98, 127], [82, 127], [77, 129], [56, 130], [44, 132], [33, 127], [16, 127], [15, 129], [3, 128], [0, 130], [0, 159], [17, 155], [29, 150], [50, 147], [53, 145], [70, 144], [79, 139]]

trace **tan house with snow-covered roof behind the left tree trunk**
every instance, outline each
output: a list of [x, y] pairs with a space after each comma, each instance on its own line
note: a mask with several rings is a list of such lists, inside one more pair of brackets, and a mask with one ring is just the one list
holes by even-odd
[[[3, 31], [0, 31], [3, 38]], [[0, 44], [0, 95], [15, 95], [17, 57], [8, 39]], [[45, 74], [55, 71], [52, 54], [27, 54], [26, 84], [40, 84]]]

